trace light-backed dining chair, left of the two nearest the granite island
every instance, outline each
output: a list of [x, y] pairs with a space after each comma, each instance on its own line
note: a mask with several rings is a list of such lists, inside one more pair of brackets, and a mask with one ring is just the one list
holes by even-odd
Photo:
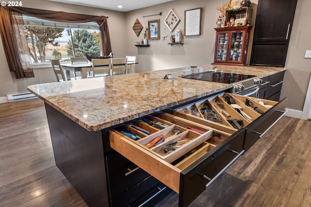
[[[93, 77], [111, 75], [111, 59], [92, 59]], [[99, 74], [96, 76], [96, 74]]]

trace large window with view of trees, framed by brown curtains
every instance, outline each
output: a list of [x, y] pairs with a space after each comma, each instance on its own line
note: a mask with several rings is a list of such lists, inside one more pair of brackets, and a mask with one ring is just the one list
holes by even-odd
[[[70, 61], [70, 57], [100, 56], [100, 31], [96, 22], [64, 23], [23, 15], [32, 64], [50, 59]], [[73, 47], [72, 47], [73, 43]]]

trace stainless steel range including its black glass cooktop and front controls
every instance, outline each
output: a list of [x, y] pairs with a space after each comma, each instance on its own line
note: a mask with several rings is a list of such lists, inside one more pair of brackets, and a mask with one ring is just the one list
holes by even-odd
[[204, 80], [232, 84], [230, 93], [242, 96], [257, 97], [259, 84], [262, 82], [254, 75], [224, 73], [222, 71], [207, 71], [191, 75], [180, 76], [186, 79]]

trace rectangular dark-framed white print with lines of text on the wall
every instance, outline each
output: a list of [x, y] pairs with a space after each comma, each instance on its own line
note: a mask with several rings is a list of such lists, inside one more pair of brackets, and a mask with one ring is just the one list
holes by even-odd
[[202, 8], [185, 11], [185, 36], [201, 35]]

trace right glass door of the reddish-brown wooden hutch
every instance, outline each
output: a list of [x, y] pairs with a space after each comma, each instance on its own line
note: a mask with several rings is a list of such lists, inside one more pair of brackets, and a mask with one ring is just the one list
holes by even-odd
[[243, 39], [244, 32], [231, 32], [230, 62], [241, 62], [241, 60], [243, 60]]

